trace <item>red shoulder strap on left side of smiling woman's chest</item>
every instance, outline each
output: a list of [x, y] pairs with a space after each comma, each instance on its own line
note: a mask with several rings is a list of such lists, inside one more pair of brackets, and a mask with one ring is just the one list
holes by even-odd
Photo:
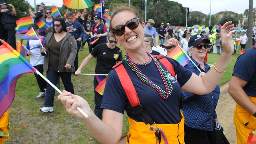
[[135, 91], [134, 85], [132, 84], [132, 80], [130, 79], [130, 76], [128, 75], [127, 71], [124, 68], [124, 65], [122, 63], [118, 63], [113, 68], [115, 68], [115, 71], [117, 72], [117, 76], [120, 79], [121, 85], [124, 89], [124, 92], [132, 105], [132, 107], [137, 107], [139, 105], [139, 97], [137, 95], [137, 92]]

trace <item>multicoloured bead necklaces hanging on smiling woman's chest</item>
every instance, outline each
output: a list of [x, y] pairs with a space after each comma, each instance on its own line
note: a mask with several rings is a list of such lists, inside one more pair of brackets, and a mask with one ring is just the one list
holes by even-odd
[[131, 68], [131, 70], [135, 72], [137, 77], [141, 81], [143, 81], [143, 83], [145, 83], [146, 85], [155, 89], [162, 99], [167, 99], [169, 96], [171, 96], [171, 94], [173, 92], [173, 86], [171, 84], [171, 81], [167, 78], [167, 75], [166, 75], [165, 71], [163, 70], [162, 66], [160, 65], [160, 63], [158, 62], [158, 60], [155, 57], [153, 57], [151, 54], [149, 54], [148, 52], [147, 52], [147, 54], [149, 57], [151, 57], [151, 59], [154, 61], [155, 65], [156, 65], [156, 67], [158, 68], [158, 72], [160, 73], [163, 84], [165, 85], [166, 92], [161, 87], [159, 87], [158, 85], [153, 83], [153, 81], [151, 79], [149, 79], [147, 76], [145, 76], [139, 70], [139, 68], [134, 63], [134, 61], [132, 61], [132, 59], [129, 57], [128, 53], [126, 53], [126, 55], [124, 55], [124, 61]]

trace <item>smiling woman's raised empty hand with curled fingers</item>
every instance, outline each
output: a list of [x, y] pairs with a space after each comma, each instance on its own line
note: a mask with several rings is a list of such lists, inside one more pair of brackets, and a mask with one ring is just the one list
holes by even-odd
[[234, 43], [232, 38], [232, 30], [235, 30], [232, 22], [226, 22], [221, 26], [221, 43], [223, 46], [223, 53], [233, 54]]

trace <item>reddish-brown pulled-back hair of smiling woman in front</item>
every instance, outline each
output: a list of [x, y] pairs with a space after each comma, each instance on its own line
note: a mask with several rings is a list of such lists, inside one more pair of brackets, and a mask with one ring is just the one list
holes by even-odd
[[136, 15], [137, 18], [140, 19], [139, 20], [140, 23], [143, 21], [143, 18], [141, 18], [139, 16], [139, 11], [137, 11], [134, 6], [129, 7], [127, 4], [118, 4], [115, 7], [116, 8], [113, 10], [113, 15], [110, 20], [110, 28], [109, 28], [110, 30], [112, 30], [111, 22], [112, 22], [113, 18], [115, 17], [115, 15], [117, 15], [118, 13], [120, 13], [122, 11], [130, 11], [130, 12], [134, 13], [134, 15]]

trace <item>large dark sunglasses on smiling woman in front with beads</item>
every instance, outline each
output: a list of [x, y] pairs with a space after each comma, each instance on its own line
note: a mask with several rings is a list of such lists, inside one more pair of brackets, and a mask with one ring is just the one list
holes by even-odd
[[124, 25], [116, 26], [112, 29], [114, 35], [116, 36], [122, 36], [125, 31], [125, 26], [129, 28], [130, 30], [135, 30], [139, 26], [139, 18], [132, 18], [126, 22]]

